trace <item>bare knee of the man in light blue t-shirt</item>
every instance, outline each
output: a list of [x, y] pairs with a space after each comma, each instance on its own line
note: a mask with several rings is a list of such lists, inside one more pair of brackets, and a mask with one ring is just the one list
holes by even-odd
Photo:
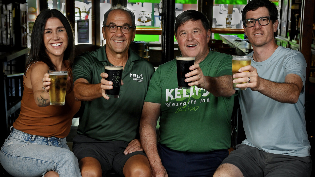
[[218, 167], [213, 177], [243, 177], [243, 174], [235, 165], [224, 163]]

